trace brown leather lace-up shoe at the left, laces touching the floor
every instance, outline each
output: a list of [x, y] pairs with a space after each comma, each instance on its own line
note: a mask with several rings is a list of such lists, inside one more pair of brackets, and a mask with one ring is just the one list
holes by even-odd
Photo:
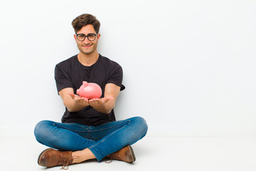
[[72, 164], [72, 151], [59, 151], [48, 148], [41, 152], [37, 160], [38, 164], [46, 167], [62, 165], [62, 169], [69, 169], [68, 165]]

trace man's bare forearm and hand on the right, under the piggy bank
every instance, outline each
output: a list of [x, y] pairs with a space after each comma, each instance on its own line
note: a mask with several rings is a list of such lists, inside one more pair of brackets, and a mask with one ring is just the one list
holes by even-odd
[[91, 99], [89, 100], [89, 105], [99, 113], [109, 114], [114, 108], [119, 92], [119, 86], [113, 83], [107, 83], [105, 86], [104, 98]]

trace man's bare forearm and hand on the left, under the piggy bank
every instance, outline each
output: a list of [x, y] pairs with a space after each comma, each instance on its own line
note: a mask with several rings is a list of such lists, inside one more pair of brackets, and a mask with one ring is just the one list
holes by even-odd
[[87, 99], [74, 94], [73, 88], [64, 88], [59, 91], [59, 95], [63, 100], [63, 104], [66, 106], [69, 112], [77, 112], [89, 105]]

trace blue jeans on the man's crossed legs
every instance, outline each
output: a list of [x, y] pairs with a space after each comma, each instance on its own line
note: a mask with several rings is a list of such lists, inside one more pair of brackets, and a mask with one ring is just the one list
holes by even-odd
[[63, 151], [89, 148], [98, 161], [127, 145], [134, 144], [146, 133], [147, 123], [140, 117], [99, 126], [43, 120], [34, 129], [36, 140], [41, 144]]

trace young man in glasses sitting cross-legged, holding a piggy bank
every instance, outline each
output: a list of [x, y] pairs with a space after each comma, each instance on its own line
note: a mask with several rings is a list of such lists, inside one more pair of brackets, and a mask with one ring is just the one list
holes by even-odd
[[[51, 147], [41, 152], [38, 163], [67, 169], [72, 163], [104, 157], [134, 162], [130, 145], [146, 135], [147, 123], [140, 117], [115, 120], [115, 101], [124, 90], [122, 67], [97, 52], [100, 23], [94, 16], [77, 16], [72, 26], [79, 54], [55, 68], [56, 87], [66, 111], [61, 123], [43, 120], [36, 125], [36, 140]], [[83, 81], [97, 83], [102, 97], [87, 100], [76, 95]]]

